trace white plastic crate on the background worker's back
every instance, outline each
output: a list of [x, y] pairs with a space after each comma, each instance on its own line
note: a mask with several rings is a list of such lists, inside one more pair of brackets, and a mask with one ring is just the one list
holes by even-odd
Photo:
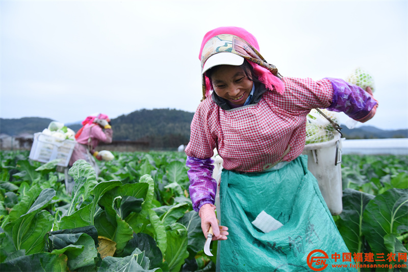
[[39, 162], [49, 162], [60, 159], [59, 166], [68, 166], [72, 151], [77, 142], [63, 140], [41, 132], [34, 133], [34, 142], [31, 147], [29, 158]]

